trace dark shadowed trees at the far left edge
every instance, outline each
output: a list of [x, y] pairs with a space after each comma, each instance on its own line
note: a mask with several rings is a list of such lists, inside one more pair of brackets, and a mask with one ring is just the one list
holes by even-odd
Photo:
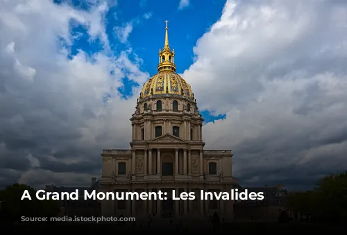
[[[21, 200], [25, 190], [32, 200]], [[37, 200], [35, 189], [25, 184], [13, 184], [0, 191], [1, 223], [50, 223], [60, 212], [59, 202]]]

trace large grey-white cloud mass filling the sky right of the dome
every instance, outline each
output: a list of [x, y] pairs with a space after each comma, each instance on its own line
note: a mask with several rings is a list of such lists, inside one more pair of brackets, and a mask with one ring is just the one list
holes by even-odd
[[199, 108], [226, 119], [206, 148], [232, 148], [248, 184], [312, 186], [347, 164], [347, 4], [227, 1], [183, 73]]

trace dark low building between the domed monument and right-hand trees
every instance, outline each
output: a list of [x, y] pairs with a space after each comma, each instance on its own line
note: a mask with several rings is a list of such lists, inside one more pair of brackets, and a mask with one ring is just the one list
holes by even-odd
[[277, 221], [282, 211], [292, 216], [287, 208], [287, 191], [282, 186], [244, 187], [239, 191], [263, 192], [264, 200], [238, 200], [234, 205], [235, 220]]

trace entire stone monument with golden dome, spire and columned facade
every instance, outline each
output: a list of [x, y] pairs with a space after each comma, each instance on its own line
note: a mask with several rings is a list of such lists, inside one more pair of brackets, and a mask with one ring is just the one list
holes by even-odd
[[[231, 150], [204, 150], [203, 118], [192, 87], [176, 73], [175, 52], [165, 28], [164, 49], [159, 50], [158, 73], [144, 83], [130, 118], [131, 149], [103, 150], [100, 190], [166, 191], [167, 200], [103, 200], [102, 216], [190, 216], [208, 218], [217, 211], [233, 218], [232, 200], [200, 200], [200, 191], [228, 191], [232, 177]], [[196, 200], [172, 200], [181, 192], [194, 192]]]

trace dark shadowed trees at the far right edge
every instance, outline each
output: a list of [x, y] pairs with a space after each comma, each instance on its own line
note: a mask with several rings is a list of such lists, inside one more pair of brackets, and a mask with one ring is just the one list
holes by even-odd
[[323, 177], [310, 191], [291, 193], [288, 207], [295, 219], [310, 223], [347, 221], [347, 171]]

